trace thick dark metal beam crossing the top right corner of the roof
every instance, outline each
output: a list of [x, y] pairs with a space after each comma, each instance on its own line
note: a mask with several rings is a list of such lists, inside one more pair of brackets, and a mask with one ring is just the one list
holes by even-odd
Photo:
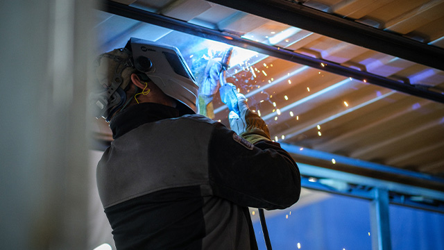
[[207, 0], [330, 38], [444, 70], [444, 49], [284, 0]]

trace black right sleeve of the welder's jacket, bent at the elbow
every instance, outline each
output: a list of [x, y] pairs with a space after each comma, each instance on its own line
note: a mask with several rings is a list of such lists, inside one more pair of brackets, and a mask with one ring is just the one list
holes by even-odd
[[217, 124], [208, 153], [214, 195], [268, 210], [287, 208], [298, 201], [299, 169], [279, 143], [264, 140], [253, 147]]

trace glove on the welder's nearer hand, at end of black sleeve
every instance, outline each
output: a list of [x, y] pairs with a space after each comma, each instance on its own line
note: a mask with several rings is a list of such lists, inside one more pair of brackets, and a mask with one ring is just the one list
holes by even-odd
[[262, 140], [271, 140], [270, 132], [264, 120], [248, 108], [244, 94], [237, 93], [237, 105], [239, 106], [240, 117], [233, 111], [230, 111], [228, 115], [232, 131], [253, 144]]

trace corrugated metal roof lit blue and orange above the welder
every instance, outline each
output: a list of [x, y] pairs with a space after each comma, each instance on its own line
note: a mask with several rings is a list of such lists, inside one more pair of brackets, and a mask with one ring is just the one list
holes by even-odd
[[[202, 0], [124, 3], [418, 88], [444, 92], [444, 72], [440, 69], [216, 3]], [[444, 48], [444, 1], [326, 0], [293, 1], [293, 4]], [[228, 47], [107, 12], [96, 13], [99, 51], [123, 47], [130, 37], [166, 42], [180, 49], [194, 74], [199, 76], [203, 58]], [[443, 103], [333, 74], [322, 67], [235, 50], [233, 60], [237, 63], [230, 65], [227, 81], [246, 94], [251, 109], [266, 120], [275, 141], [434, 176], [444, 175]], [[214, 107], [216, 119], [228, 125], [228, 110], [219, 97]], [[98, 138], [110, 139], [105, 124], [99, 124], [95, 130]], [[329, 168], [333, 164], [315, 158], [295, 160]]]

